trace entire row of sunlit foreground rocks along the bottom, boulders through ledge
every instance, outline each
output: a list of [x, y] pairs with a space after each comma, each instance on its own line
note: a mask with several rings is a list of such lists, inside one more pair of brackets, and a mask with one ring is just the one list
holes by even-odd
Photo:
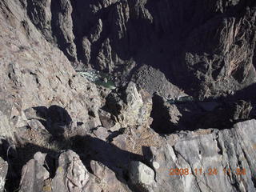
[[[133, 191], [255, 191], [255, 127], [255, 120], [250, 120], [230, 130], [170, 134], [160, 140], [162, 146], [150, 147], [152, 154], [140, 159], [148, 166], [131, 161], [123, 167], [130, 176], [121, 181]], [[94, 150], [102, 153], [106, 148]], [[130, 191], [115, 178], [118, 166], [111, 166], [111, 158], [102, 156], [103, 164], [90, 162], [90, 173], [78, 154], [68, 150], [60, 154], [56, 174], [50, 178], [43, 166], [45, 157], [37, 153], [23, 167], [20, 191]]]

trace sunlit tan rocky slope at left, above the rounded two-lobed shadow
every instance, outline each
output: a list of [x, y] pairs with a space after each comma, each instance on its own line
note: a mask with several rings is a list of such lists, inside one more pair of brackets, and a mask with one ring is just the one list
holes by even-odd
[[[96, 87], [75, 75], [70, 62], [42, 38], [19, 2], [4, 1], [1, 7], [0, 96], [5, 105], [1, 115], [8, 120], [18, 117], [14, 122], [18, 127], [26, 121], [23, 110], [56, 105], [65, 107], [73, 122], [89, 122], [88, 111], [98, 111], [101, 105]], [[96, 112], [90, 120], [101, 125]]]

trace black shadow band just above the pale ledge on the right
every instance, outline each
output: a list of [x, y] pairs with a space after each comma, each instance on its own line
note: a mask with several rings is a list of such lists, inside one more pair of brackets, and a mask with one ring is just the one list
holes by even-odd
[[255, 86], [250, 86], [226, 98], [206, 101], [186, 101], [166, 104], [154, 94], [151, 118], [158, 134], [173, 134], [181, 130], [214, 128], [230, 129], [237, 122], [255, 118]]

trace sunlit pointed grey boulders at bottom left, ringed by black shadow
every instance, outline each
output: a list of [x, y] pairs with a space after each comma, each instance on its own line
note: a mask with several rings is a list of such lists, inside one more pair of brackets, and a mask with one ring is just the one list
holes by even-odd
[[[78, 154], [72, 150], [62, 152], [54, 178], [42, 165], [46, 154], [37, 153], [23, 167], [19, 191], [120, 191], [130, 192], [128, 186], [119, 182], [114, 171], [99, 162], [90, 162], [93, 174], [83, 165]], [[29, 169], [30, 168], [30, 169]]]

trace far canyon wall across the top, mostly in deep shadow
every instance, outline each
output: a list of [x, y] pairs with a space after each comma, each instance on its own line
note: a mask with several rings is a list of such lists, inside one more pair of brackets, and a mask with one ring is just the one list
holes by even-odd
[[146, 64], [202, 97], [255, 82], [254, 1], [23, 2], [76, 67], [124, 72]]

